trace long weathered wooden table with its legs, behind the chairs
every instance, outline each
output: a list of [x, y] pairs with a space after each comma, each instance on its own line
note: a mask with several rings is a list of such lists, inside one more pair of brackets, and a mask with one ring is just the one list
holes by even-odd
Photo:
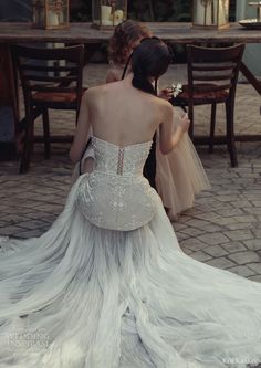
[[[232, 23], [226, 30], [198, 30], [191, 23], [146, 23], [153, 33], [169, 43], [261, 43], [261, 31], [246, 30], [238, 23]], [[18, 96], [15, 88], [15, 73], [11, 61], [11, 45], [13, 43], [44, 43], [65, 42], [70, 44], [84, 43], [87, 48], [108, 41], [113, 31], [95, 30], [91, 23], [72, 23], [67, 30], [35, 30], [30, 23], [0, 23], [0, 157], [12, 156], [15, 150], [14, 136], [18, 129]], [[261, 83], [242, 63], [241, 72], [261, 94]], [[3, 112], [4, 114], [1, 114]], [[7, 112], [9, 112], [7, 114]], [[1, 116], [9, 116], [12, 137], [3, 141], [1, 130], [3, 120]], [[7, 118], [7, 117], [6, 117]], [[4, 119], [6, 122], [6, 119]], [[237, 137], [238, 140], [257, 140], [261, 137]]]

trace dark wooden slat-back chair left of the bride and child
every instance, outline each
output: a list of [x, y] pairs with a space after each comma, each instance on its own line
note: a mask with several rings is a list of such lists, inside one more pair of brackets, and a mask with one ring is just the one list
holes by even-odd
[[82, 97], [84, 45], [60, 49], [13, 46], [25, 107], [25, 129], [20, 172], [29, 169], [34, 141], [34, 120], [42, 115], [44, 158], [50, 157], [49, 108], [75, 109]]

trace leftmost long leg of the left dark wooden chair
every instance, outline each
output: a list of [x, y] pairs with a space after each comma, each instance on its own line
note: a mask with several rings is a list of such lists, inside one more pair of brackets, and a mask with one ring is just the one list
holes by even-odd
[[28, 116], [24, 145], [23, 145], [19, 174], [24, 174], [29, 170], [32, 149], [33, 149], [33, 118], [31, 116]]

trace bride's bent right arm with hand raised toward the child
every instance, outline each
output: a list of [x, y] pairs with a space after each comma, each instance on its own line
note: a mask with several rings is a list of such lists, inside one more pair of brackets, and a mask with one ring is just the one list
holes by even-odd
[[159, 126], [159, 147], [164, 155], [169, 154], [178, 145], [184, 134], [188, 130], [189, 124], [190, 120], [185, 114], [175, 132], [173, 132], [174, 107], [170, 104], [165, 105], [164, 120]]

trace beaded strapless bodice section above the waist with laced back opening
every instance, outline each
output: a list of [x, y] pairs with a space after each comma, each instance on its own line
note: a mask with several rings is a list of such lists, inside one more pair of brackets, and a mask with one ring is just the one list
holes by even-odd
[[119, 176], [142, 175], [150, 146], [152, 140], [121, 147], [93, 136], [95, 171]]

